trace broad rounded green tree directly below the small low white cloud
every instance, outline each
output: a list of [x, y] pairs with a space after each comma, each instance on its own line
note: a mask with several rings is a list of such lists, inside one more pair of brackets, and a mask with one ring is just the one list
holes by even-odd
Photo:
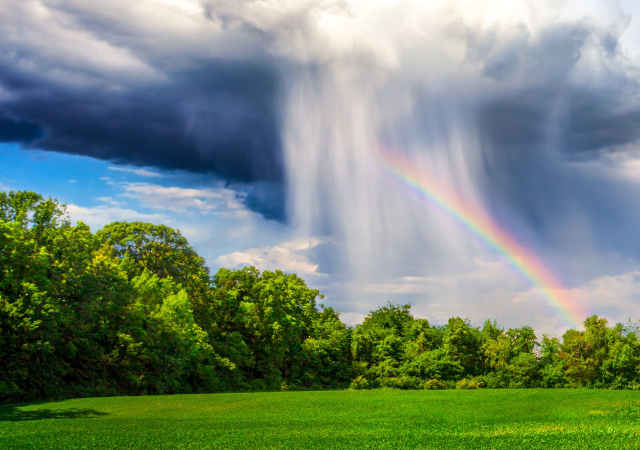
[[269, 389], [305, 383], [303, 361], [312, 342], [305, 349], [303, 343], [319, 325], [319, 292], [279, 270], [220, 269], [213, 281], [214, 347], [225, 357], [239, 357], [244, 382]]

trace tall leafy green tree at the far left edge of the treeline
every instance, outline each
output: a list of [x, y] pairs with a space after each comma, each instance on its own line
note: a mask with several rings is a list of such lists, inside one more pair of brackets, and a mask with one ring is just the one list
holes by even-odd
[[30, 192], [0, 193], [0, 399], [58, 393], [65, 365], [52, 358], [60, 309], [50, 288], [44, 246], [67, 225], [63, 206]]

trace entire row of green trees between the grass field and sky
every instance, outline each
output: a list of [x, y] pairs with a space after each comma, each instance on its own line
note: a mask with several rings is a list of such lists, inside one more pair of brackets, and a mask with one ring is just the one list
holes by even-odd
[[220, 269], [180, 232], [0, 193], [0, 401], [286, 389], [640, 388], [640, 330], [597, 316], [562, 339], [431, 326], [389, 303], [362, 325], [282, 271]]

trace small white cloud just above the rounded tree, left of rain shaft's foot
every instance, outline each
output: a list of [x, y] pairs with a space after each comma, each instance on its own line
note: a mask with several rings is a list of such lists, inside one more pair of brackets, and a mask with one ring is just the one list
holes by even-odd
[[260, 270], [280, 269], [298, 275], [322, 277], [324, 274], [317, 271], [318, 265], [304, 254], [306, 250], [314, 248], [319, 243], [319, 239], [298, 239], [271, 247], [249, 248], [244, 252], [221, 255], [215, 262], [228, 268], [255, 266]]

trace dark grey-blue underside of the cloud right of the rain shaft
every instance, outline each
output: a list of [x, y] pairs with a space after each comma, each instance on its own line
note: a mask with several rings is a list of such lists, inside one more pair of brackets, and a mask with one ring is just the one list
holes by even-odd
[[554, 145], [569, 157], [584, 158], [640, 138], [640, 101], [609, 89], [529, 89], [487, 102], [479, 122], [497, 149], [544, 152], [545, 145]]

